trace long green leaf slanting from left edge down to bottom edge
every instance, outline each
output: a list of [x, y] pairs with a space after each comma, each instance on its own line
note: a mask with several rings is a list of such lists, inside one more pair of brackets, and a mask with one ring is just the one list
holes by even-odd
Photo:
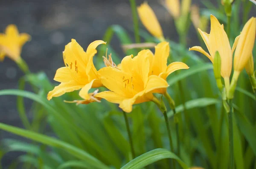
[[46, 144], [48, 146], [57, 147], [60, 149], [64, 149], [65, 151], [69, 152], [76, 158], [81, 160], [85, 160], [89, 165], [97, 168], [97, 169], [109, 169], [104, 163], [99, 161], [98, 159], [94, 158], [87, 152], [79, 149], [73, 145], [67, 144], [63, 141], [60, 141], [56, 138], [51, 138], [47, 135], [38, 134], [36, 132], [31, 132], [29, 130], [20, 129], [18, 127], [13, 127], [7, 124], [0, 123], [0, 129], [5, 130], [7, 132], [12, 132], [16, 135], [23, 136], [25, 138], [29, 138], [31, 140], [37, 141], [42, 144]]

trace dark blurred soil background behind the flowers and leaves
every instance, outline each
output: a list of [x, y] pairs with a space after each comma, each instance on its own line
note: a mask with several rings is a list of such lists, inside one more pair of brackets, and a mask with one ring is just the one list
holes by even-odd
[[[173, 20], [160, 5], [160, 0], [147, 1], [160, 20], [165, 36], [177, 41]], [[141, 3], [143, 0], [137, 0], [137, 5]], [[192, 3], [203, 7], [199, 0], [192, 0]], [[24, 45], [21, 56], [32, 72], [44, 71], [49, 79], [53, 79], [56, 69], [63, 66], [62, 51], [71, 38], [86, 49], [90, 42], [102, 39], [105, 30], [113, 24], [123, 26], [133, 38], [128, 0], [0, 0], [0, 32], [9, 24], [17, 25], [20, 32], [32, 36], [32, 40]], [[187, 40], [188, 47], [199, 44], [192, 25]], [[120, 57], [124, 56], [118, 39], [114, 38], [111, 45]], [[0, 62], [0, 90], [16, 89], [22, 76], [9, 58]], [[27, 99], [25, 103], [30, 105]], [[15, 96], [0, 97], [0, 122], [22, 127]], [[0, 132], [0, 138], [19, 137]], [[3, 158], [3, 166], [8, 166], [16, 156], [8, 153]]]

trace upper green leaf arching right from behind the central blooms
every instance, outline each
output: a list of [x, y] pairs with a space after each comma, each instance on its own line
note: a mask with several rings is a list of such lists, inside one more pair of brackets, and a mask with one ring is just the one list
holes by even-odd
[[170, 86], [172, 86], [175, 83], [177, 83], [178, 81], [180, 81], [181, 79], [184, 79], [184, 78], [191, 76], [195, 73], [199, 73], [201, 71], [210, 70], [210, 69], [213, 69], [213, 66], [211, 63], [195, 65], [195, 66], [190, 67], [188, 71], [182, 71], [178, 75], [170, 78], [167, 82]]

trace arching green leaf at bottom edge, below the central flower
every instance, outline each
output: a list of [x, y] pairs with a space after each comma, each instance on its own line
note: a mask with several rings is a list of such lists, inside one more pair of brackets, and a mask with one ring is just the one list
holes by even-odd
[[165, 158], [172, 158], [175, 159], [183, 169], [189, 168], [186, 163], [180, 160], [174, 153], [166, 150], [166, 149], [154, 149], [149, 152], [140, 155], [137, 158], [134, 158], [129, 163], [125, 164], [121, 169], [142, 169], [145, 166], [148, 166], [151, 163], [156, 161], [165, 159]]

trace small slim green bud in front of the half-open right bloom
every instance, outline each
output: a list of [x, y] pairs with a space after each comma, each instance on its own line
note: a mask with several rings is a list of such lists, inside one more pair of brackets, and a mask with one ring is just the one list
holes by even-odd
[[218, 51], [215, 52], [213, 60], [213, 73], [217, 82], [217, 86], [220, 91], [222, 91], [222, 82], [221, 82], [221, 56]]

